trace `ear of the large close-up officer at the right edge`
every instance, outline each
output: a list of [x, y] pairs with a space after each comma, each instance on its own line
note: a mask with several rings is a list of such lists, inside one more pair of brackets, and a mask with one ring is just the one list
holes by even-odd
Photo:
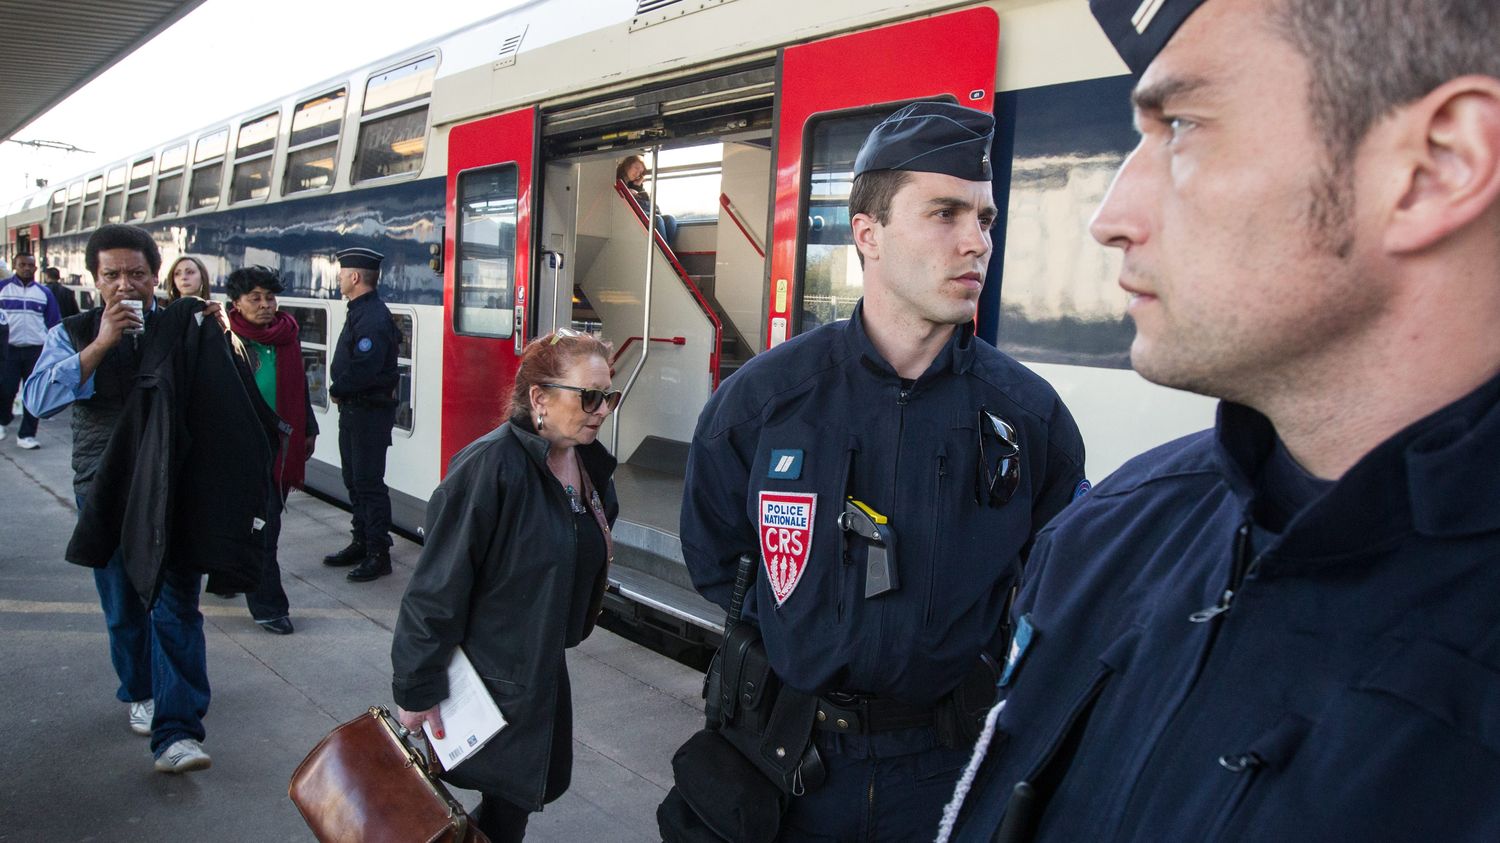
[[1392, 254], [1428, 249], [1470, 226], [1500, 200], [1500, 80], [1449, 80], [1398, 112], [1408, 126], [1404, 192], [1384, 231]]

